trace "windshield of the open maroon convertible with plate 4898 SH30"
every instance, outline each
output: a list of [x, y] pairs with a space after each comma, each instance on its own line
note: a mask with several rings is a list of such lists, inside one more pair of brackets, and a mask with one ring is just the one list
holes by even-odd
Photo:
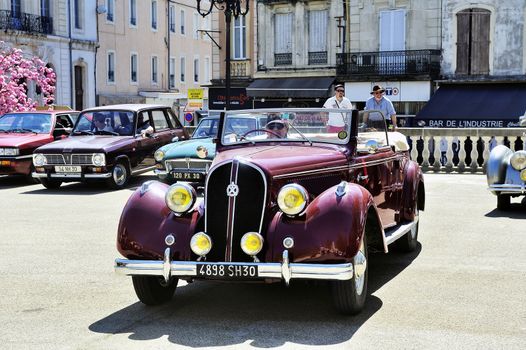
[[[351, 112], [350, 109], [325, 108], [228, 111], [222, 143], [294, 141], [346, 144], [351, 131]], [[253, 120], [254, 123], [239, 127], [240, 118]], [[261, 120], [261, 126], [257, 126], [255, 120]]]

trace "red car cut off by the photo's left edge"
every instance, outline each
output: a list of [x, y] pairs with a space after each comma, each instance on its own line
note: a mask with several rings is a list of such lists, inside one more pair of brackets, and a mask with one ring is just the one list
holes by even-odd
[[79, 112], [72, 110], [6, 113], [0, 117], [0, 175], [32, 180], [33, 151], [67, 136]]

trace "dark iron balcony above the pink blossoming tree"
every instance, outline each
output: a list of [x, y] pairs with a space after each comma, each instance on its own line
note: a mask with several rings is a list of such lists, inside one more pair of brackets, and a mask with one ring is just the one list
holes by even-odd
[[53, 19], [46, 16], [0, 10], [0, 29], [20, 30], [28, 33], [52, 34]]

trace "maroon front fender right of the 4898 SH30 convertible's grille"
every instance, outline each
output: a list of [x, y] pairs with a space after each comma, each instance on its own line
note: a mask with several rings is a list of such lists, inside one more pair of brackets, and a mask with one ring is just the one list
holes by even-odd
[[270, 247], [267, 261], [281, 261], [283, 239], [292, 237], [289, 249], [293, 262], [350, 262], [358, 252], [364, 234], [371, 194], [362, 186], [346, 184], [345, 193], [336, 195], [333, 186], [317, 196], [298, 218], [278, 211], [272, 218], [267, 238]]

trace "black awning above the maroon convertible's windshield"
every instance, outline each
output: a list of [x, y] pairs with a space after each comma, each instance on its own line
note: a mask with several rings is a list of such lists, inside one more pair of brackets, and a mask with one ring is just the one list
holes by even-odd
[[334, 78], [256, 79], [247, 87], [251, 97], [327, 98]]

